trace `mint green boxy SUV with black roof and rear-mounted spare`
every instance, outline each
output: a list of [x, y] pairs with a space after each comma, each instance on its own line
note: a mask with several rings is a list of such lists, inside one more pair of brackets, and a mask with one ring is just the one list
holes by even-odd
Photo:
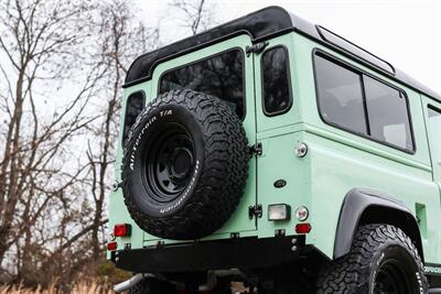
[[279, 7], [123, 87], [117, 292], [441, 293], [440, 95]]

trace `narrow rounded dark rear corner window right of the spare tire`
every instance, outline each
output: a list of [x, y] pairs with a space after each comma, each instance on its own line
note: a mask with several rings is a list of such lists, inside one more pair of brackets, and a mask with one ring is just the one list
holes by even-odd
[[292, 97], [287, 48], [277, 46], [266, 51], [261, 57], [261, 72], [265, 115], [288, 111]]

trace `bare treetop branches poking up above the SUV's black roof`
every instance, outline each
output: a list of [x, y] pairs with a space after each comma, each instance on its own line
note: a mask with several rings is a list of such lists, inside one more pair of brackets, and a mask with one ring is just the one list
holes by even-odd
[[170, 6], [183, 14], [184, 26], [193, 35], [215, 23], [213, 6], [207, 4], [206, 0], [173, 0]]

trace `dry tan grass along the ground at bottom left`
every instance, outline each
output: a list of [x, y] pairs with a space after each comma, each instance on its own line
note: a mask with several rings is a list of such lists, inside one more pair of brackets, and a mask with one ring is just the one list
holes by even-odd
[[[111, 294], [112, 291], [106, 284], [99, 284], [97, 282], [80, 282], [73, 286], [72, 294]], [[49, 288], [25, 288], [23, 286], [0, 286], [0, 294], [64, 294], [58, 291], [55, 285]]]

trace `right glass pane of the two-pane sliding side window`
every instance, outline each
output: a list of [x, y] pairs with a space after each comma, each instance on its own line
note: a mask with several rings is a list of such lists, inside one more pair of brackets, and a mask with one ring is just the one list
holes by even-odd
[[413, 150], [406, 96], [376, 79], [364, 76], [370, 135], [406, 150]]

